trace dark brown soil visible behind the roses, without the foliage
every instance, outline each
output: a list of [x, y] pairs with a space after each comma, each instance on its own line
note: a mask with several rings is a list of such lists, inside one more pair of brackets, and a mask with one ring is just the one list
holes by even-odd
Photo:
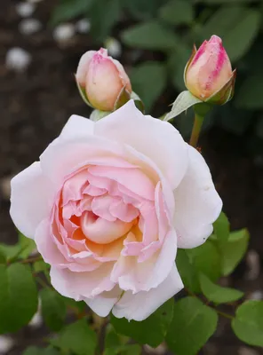
[[[54, 41], [53, 29], [48, 25], [54, 6], [52, 0], [38, 3], [34, 13], [43, 28], [34, 35], [20, 34], [17, 3], [1, 0], [0, 12], [0, 241], [6, 243], [17, 238], [9, 216], [8, 181], [38, 160], [71, 114], [89, 115], [89, 108], [84, 106], [76, 90], [74, 73], [84, 51], [93, 49], [89, 35], [76, 35], [64, 45]], [[22, 73], [5, 67], [6, 52], [12, 47], [21, 47], [32, 56], [31, 64]], [[128, 54], [124, 49], [124, 66]], [[165, 95], [155, 107], [157, 111], [164, 112], [167, 107], [164, 103], [170, 103], [175, 93]], [[214, 127], [203, 134], [200, 146], [211, 167], [231, 228], [247, 227], [251, 233], [249, 257], [225, 281], [253, 298], [263, 297], [263, 164], [244, 149], [244, 138]], [[253, 271], [254, 277], [248, 277]], [[44, 327], [23, 329], [15, 335], [17, 343], [8, 354], [19, 355], [29, 344], [42, 343], [44, 335]], [[223, 319], [216, 335], [200, 354], [223, 353], [256, 355], [263, 351], [239, 342], [229, 322]]]

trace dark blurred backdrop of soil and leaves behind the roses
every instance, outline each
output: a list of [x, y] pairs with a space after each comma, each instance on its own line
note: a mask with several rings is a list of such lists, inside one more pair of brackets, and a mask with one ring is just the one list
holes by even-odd
[[[0, 241], [17, 239], [9, 217], [11, 177], [38, 160], [71, 114], [90, 114], [74, 80], [84, 51], [108, 48], [147, 113], [157, 117], [185, 89], [183, 70], [193, 44], [213, 34], [222, 37], [237, 68], [236, 90], [205, 120], [200, 146], [231, 228], [251, 233], [246, 258], [222, 282], [263, 299], [262, 0], [1, 0]], [[172, 123], [187, 139], [192, 122], [189, 109]], [[0, 354], [20, 354], [41, 342], [45, 331], [38, 319], [15, 341], [1, 336]], [[263, 354], [239, 343], [224, 321], [200, 354], [223, 351]]]

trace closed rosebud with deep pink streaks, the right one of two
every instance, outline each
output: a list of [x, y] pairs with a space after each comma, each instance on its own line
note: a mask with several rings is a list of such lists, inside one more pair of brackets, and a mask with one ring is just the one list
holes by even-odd
[[225, 104], [233, 97], [235, 70], [219, 36], [211, 36], [194, 51], [185, 68], [188, 91], [206, 102]]

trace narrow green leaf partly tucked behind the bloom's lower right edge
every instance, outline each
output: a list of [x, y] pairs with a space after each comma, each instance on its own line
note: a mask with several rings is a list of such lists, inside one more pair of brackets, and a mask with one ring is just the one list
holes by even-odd
[[177, 250], [176, 265], [185, 288], [192, 292], [198, 292], [200, 289], [198, 273], [195, 266], [191, 264], [186, 250]]

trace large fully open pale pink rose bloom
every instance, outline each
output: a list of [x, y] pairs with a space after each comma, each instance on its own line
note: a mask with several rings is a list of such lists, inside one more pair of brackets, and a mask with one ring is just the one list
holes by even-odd
[[61, 295], [135, 320], [183, 288], [177, 248], [202, 244], [222, 207], [202, 155], [132, 100], [99, 122], [73, 115], [11, 201]]

